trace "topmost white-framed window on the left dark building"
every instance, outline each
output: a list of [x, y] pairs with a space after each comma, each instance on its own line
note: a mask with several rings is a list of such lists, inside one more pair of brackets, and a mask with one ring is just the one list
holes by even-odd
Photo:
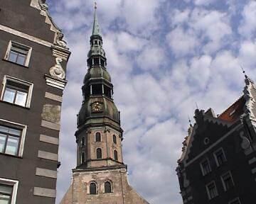
[[31, 47], [10, 41], [5, 60], [28, 67], [31, 50]]

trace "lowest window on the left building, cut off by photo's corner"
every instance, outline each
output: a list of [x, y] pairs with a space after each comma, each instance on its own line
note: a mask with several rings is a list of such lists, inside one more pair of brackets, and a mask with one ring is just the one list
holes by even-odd
[[0, 179], [0, 203], [14, 204], [16, 203], [16, 194], [18, 181], [9, 179]]

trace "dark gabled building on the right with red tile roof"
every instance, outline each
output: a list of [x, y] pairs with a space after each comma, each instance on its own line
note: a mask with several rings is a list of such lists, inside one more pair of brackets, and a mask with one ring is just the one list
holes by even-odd
[[220, 115], [195, 111], [178, 159], [183, 203], [252, 204], [256, 200], [256, 87], [245, 89]]

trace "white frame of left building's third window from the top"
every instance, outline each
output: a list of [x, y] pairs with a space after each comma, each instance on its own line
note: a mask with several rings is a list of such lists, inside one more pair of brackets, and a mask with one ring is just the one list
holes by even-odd
[[[18, 126], [18, 128], [21, 128], [22, 132], [21, 132], [21, 142], [20, 142], [20, 145], [19, 145], [19, 149], [18, 149], [18, 157], [22, 157], [23, 156], [23, 152], [24, 152], [24, 145], [25, 145], [25, 137], [26, 137], [26, 131], [27, 131], [27, 125], [23, 125], [21, 123], [14, 123], [14, 122], [11, 122], [9, 120], [4, 120], [4, 119], [0, 119], [0, 124], [1, 125], [6, 125], [8, 127], [14, 127], [15, 128]], [[6, 154], [6, 155], [9, 155], [9, 154]]]

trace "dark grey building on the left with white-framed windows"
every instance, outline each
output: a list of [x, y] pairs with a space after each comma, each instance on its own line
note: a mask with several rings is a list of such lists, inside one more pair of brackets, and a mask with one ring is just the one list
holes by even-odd
[[70, 52], [43, 0], [0, 0], [0, 203], [54, 204]]

